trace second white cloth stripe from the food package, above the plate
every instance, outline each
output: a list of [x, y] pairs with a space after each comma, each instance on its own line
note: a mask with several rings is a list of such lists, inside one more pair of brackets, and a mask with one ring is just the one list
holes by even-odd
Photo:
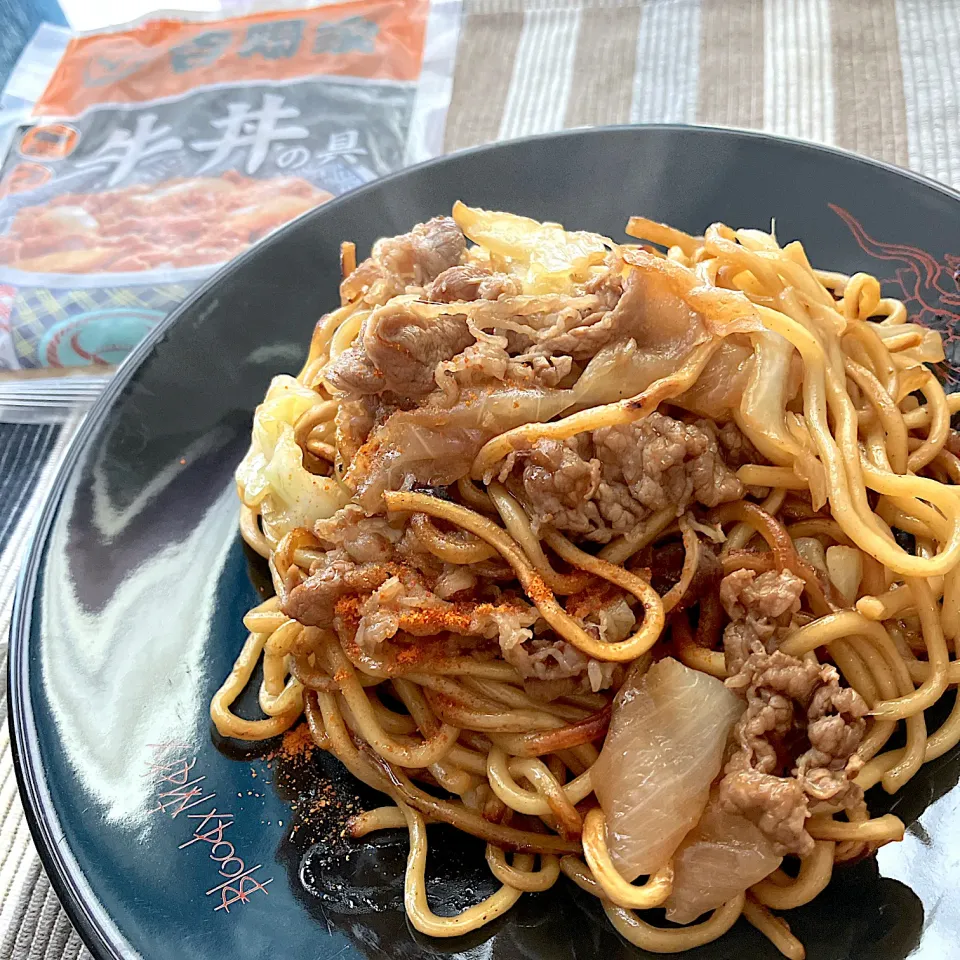
[[699, 0], [647, 0], [637, 31], [631, 123], [693, 123], [700, 71]]

